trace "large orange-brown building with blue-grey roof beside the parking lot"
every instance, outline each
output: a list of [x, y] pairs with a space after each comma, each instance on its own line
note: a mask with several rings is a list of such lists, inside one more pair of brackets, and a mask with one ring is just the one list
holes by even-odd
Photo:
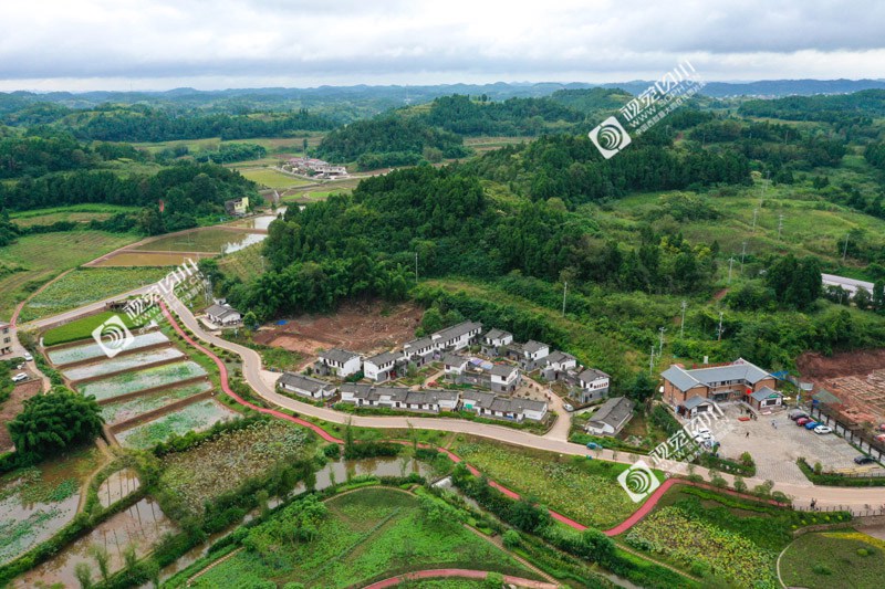
[[738, 358], [731, 364], [686, 370], [671, 365], [660, 374], [664, 380], [664, 400], [681, 412], [693, 397], [716, 402], [746, 400], [746, 397], [764, 387], [773, 389], [778, 379], [758, 366]]

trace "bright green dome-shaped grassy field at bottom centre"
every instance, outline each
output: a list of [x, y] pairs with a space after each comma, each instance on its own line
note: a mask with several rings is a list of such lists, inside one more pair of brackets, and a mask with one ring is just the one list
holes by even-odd
[[325, 506], [311, 539], [282, 539], [281, 533], [301, 513], [295, 503], [250, 532], [244, 544], [251, 549], [209, 569], [190, 587], [257, 587], [262, 580], [278, 586], [362, 587], [409, 570], [448, 567], [535, 578], [459, 522], [428, 518], [418, 501], [403, 492], [363, 488], [333, 497]]

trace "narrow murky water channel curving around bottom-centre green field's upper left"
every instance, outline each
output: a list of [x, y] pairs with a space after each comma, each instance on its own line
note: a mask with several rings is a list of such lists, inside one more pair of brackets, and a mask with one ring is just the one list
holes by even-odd
[[[354, 476], [358, 476], [362, 474], [374, 474], [376, 476], [403, 476], [409, 475], [410, 473], [418, 473], [421, 476], [431, 476], [430, 467], [423, 462], [419, 462], [414, 459], [364, 459], [364, 460], [339, 460], [337, 462], [330, 462], [319, 471], [316, 471], [316, 484], [314, 488], [316, 491], [322, 491], [324, 488], [329, 488], [332, 485], [336, 485], [340, 483], [345, 483], [348, 480], [353, 478]], [[303, 493], [306, 491], [306, 486], [303, 483], [299, 483], [295, 488], [289, 494], [289, 496], [298, 495], [299, 493]], [[275, 507], [282, 502], [280, 498], [271, 498], [268, 504], [270, 507]], [[254, 517], [256, 512], [252, 512], [246, 516], [242, 523], [250, 520]], [[241, 524], [242, 524], [241, 523]], [[160, 579], [165, 580], [183, 570], [198, 559], [206, 556], [209, 551], [209, 547], [218, 541], [219, 539], [223, 538], [241, 524], [237, 524], [236, 526], [231, 526], [230, 528], [219, 532], [217, 534], [212, 534], [209, 538], [200, 544], [191, 548], [188, 553], [186, 553], [181, 558], [176, 560], [174, 564], [169, 565], [168, 567], [164, 568], [160, 571]]]

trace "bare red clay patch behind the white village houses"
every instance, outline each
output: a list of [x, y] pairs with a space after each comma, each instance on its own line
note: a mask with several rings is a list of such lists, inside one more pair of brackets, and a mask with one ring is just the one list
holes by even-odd
[[344, 348], [362, 354], [381, 353], [414, 338], [423, 311], [412, 304], [388, 308], [378, 302], [348, 303], [333, 315], [303, 315], [287, 325], [272, 325], [256, 334], [257, 344], [305, 356], [321, 349]]

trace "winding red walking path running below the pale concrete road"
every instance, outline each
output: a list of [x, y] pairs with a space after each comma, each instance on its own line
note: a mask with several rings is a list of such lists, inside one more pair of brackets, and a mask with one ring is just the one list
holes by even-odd
[[[325, 431], [321, 427], [316, 425], [315, 423], [311, 423], [310, 421], [289, 416], [287, 413], [281, 412], [281, 411], [277, 411], [277, 410], [273, 410], [273, 409], [267, 409], [267, 408], [263, 408], [263, 407], [258, 407], [257, 404], [247, 401], [246, 399], [243, 399], [242, 397], [240, 397], [239, 395], [233, 392], [233, 390], [230, 388], [230, 385], [228, 382], [228, 369], [227, 369], [227, 366], [225, 366], [225, 362], [221, 360], [221, 358], [216, 356], [215, 353], [212, 353], [208, 348], [204, 347], [202, 345], [197, 344], [194, 340], [194, 338], [191, 338], [184, 329], [181, 329], [181, 327], [178, 325], [178, 320], [173, 316], [173, 314], [169, 312], [169, 309], [166, 308], [166, 305], [164, 303], [160, 303], [160, 306], [163, 307], [163, 314], [166, 316], [166, 318], [168, 319], [169, 324], [175, 328], [175, 330], [178, 333], [178, 335], [180, 335], [185, 339], [185, 341], [187, 341], [190, 346], [192, 346], [194, 348], [200, 350], [206, 356], [208, 356], [209, 358], [212, 359], [215, 365], [218, 367], [218, 371], [219, 371], [219, 374], [221, 376], [221, 390], [223, 390], [225, 393], [228, 395], [231, 399], [233, 399], [235, 401], [237, 401], [241, 406], [248, 407], [249, 409], [252, 409], [252, 410], [258, 411], [260, 413], [266, 413], [268, 416], [273, 416], [273, 417], [279, 418], [279, 419], [284, 419], [284, 420], [291, 421], [292, 423], [298, 423], [299, 425], [303, 425], [304, 428], [309, 428], [310, 430], [315, 432], [320, 438], [322, 438], [326, 442], [332, 442], [332, 443], [336, 443], [336, 444], [344, 443], [343, 440], [340, 440], [340, 439], [335, 438], [334, 435], [330, 434], [327, 431]], [[421, 445], [427, 446], [427, 444], [421, 444]], [[430, 448], [430, 446], [427, 446], [427, 448]], [[444, 452], [446, 455], [448, 455], [449, 459], [451, 459], [452, 462], [456, 462], [456, 463], [464, 462], [464, 460], [460, 456], [458, 456], [457, 454], [452, 453], [450, 450], [447, 450], [445, 448], [437, 448], [436, 450], [438, 450], [440, 452]], [[477, 469], [475, 469], [470, 464], [465, 463], [465, 465], [470, 471], [470, 474], [472, 474], [475, 476], [479, 476], [481, 474]], [[664, 483], [662, 483], [662, 485], [659, 487], [657, 487], [654, 491], [654, 493], [652, 493], [652, 495], [648, 496], [648, 498], [645, 501], [645, 503], [643, 503], [643, 505], [638, 509], [636, 509], [633, 513], [633, 515], [631, 515], [629, 517], [624, 519], [621, 524], [616, 525], [615, 527], [613, 527], [611, 529], [606, 529], [605, 530], [605, 535], [606, 536], [617, 536], [618, 534], [623, 534], [624, 532], [626, 532], [627, 529], [629, 529], [631, 527], [636, 525], [643, 517], [648, 515], [648, 513], [652, 509], [654, 509], [655, 505], [657, 505], [657, 502], [660, 499], [660, 497], [664, 495], [664, 493], [666, 493], [667, 490], [669, 490], [675, 484], [689, 484], [689, 485], [696, 485], [696, 486], [701, 486], [701, 487], [715, 488], [715, 487], [712, 487], [710, 485], [696, 484], [696, 483], [693, 483], [690, 481], [684, 481], [684, 480], [680, 480], [680, 478], [667, 478], [666, 481], [664, 481]], [[517, 493], [516, 491], [512, 491], [510, 488], [507, 488], [506, 486], [503, 486], [503, 485], [501, 485], [499, 483], [496, 483], [494, 481], [489, 481], [489, 485], [493, 486], [494, 488], [497, 488], [498, 491], [500, 491], [501, 493], [503, 493], [504, 495], [507, 495], [510, 498], [513, 498], [513, 499], [519, 499], [520, 498], [520, 494], [519, 493]], [[719, 488], [717, 488], [716, 491], [720, 492], [720, 493], [721, 492], [726, 492], [726, 493], [729, 493], [729, 494], [732, 494], [732, 495], [737, 495], [737, 496], [745, 496], [745, 495], [741, 495], [740, 493], [736, 493], [733, 491], [725, 491], [725, 490], [719, 490]], [[753, 501], [761, 501], [761, 499], [753, 498]], [[775, 502], [770, 502], [770, 503], [777, 505]], [[559, 520], [559, 522], [562, 522], [566, 526], [570, 526], [570, 527], [572, 527], [574, 529], [577, 529], [579, 532], [583, 532], [583, 530], [585, 530], [587, 528], [587, 526], [585, 526], [583, 524], [580, 524], [580, 523], [575, 522], [574, 519], [572, 519], [571, 517], [562, 515], [561, 513], [554, 512], [553, 509], [550, 509], [550, 516], [552, 518]], [[451, 569], [451, 570], [457, 570], [457, 569]], [[423, 571], [423, 572], [433, 572], [433, 571]], [[467, 571], [467, 572], [478, 572], [478, 574], [483, 575], [483, 577], [486, 575], [483, 571]], [[437, 577], [439, 577], [439, 575], [437, 575]], [[396, 579], [399, 579], [399, 577], [397, 577]], [[387, 580], [391, 580], [391, 579], [387, 579]], [[381, 581], [381, 582], [387, 582], [387, 581]], [[531, 581], [531, 582], [534, 582], [534, 581]], [[376, 583], [376, 585], [373, 585], [371, 587], [389, 587], [389, 586], [388, 585], [383, 585], [382, 586], [382, 585], [377, 585]], [[530, 587], [535, 587], [535, 586], [530, 586]], [[537, 586], [537, 587], [541, 587], [541, 586]], [[543, 587], [546, 587], [546, 585], [543, 585]]]

